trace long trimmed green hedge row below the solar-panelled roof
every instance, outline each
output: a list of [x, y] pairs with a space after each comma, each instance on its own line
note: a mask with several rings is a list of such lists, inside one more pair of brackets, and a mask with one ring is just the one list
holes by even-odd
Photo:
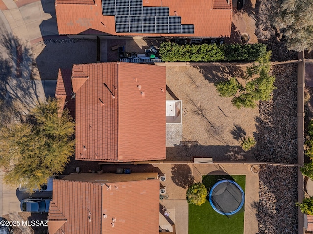
[[163, 42], [159, 55], [165, 62], [254, 62], [266, 54], [263, 44], [178, 45]]

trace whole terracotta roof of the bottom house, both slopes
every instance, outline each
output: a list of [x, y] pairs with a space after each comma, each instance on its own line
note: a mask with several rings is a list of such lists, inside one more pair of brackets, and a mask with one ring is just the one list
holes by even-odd
[[[54, 180], [53, 202], [58, 209], [49, 210], [50, 234], [159, 233], [158, 179], [107, 184]], [[63, 224], [51, 219], [59, 211], [67, 220]]]

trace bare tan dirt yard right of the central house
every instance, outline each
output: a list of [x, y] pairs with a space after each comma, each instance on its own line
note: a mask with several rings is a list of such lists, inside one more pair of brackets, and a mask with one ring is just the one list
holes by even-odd
[[[168, 161], [192, 161], [193, 157], [212, 157], [214, 161], [253, 161], [254, 150], [231, 158], [231, 150], [242, 152], [239, 137], [257, 137], [258, 108], [237, 109], [231, 98], [220, 97], [215, 82], [229, 74], [238, 75], [245, 67], [226, 67], [207, 64], [198, 67], [167, 67], [167, 100], [182, 100], [183, 141], [166, 148]], [[199, 114], [200, 110], [203, 115]]]

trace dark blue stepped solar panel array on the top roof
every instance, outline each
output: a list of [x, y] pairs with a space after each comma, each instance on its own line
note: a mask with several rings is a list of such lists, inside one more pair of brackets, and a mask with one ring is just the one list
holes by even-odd
[[145, 7], [142, 0], [102, 0], [102, 14], [115, 16], [117, 33], [194, 33], [193, 24], [169, 16], [169, 7]]

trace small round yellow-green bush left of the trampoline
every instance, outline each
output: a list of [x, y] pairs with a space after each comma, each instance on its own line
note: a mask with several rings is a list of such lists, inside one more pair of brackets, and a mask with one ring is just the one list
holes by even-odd
[[188, 204], [194, 204], [196, 206], [201, 206], [207, 195], [207, 189], [202, 183], [195, 183], [187, 189], [186, 199]]

